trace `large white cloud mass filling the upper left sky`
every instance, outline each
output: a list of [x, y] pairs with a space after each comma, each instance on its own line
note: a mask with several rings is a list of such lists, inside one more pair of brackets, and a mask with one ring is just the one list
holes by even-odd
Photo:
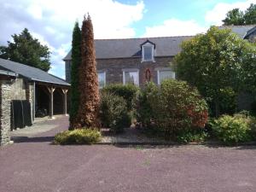
[[42, 44], [49, 46], [52, 69], [60, 77], [64, 74], [62, 58], [70, 49], [73, 25], [90, 13], [95, 38], [133, 38], [131, 25], [143, 18], [144, 3], [125, 4], [115, 0], [0, 0], [0, 43], [6, 44], [11, 35], [25, 27]]

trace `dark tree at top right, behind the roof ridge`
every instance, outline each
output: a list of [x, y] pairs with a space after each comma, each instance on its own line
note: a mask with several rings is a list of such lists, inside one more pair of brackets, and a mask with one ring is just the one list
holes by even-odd
[[230, 10], [226, 18], [222, 20], [224, 26], [244, 26], [244, 25], [255, 25], [256, 24], [256, 4], [251, 4], [246, 11], [240, 9]]

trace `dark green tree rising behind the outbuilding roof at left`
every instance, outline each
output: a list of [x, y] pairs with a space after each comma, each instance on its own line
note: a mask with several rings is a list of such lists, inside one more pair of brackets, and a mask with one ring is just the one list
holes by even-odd
[[40, 44], [37, 38], [25, 28], [19, 35], [12, 35], [13, 42], [0, 47], [0, 58], [20, 62], [31, 67], [49, 71], [50, 51], [46, 45]]

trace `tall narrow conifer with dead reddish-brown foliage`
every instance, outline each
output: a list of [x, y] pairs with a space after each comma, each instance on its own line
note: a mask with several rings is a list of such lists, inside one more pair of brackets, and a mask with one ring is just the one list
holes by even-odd
[[93, 26], [90, 15], [84, 16], [81, 44], [82, 63], [79, 66], [79, 127], [98, 127], [99, 87], [96, 72]]

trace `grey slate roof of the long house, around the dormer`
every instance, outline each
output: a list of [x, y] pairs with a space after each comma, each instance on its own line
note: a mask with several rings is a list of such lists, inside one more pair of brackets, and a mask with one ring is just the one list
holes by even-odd
[[[192, 36], [162, 38], [95, 39], [96, 59], [140, 57], [141, 44], [150, 41], [155, 44], [154, 56], [174, 56], [180, 52], [180, 44]], [[71, 51], [63, 59], [71, 60]]]

